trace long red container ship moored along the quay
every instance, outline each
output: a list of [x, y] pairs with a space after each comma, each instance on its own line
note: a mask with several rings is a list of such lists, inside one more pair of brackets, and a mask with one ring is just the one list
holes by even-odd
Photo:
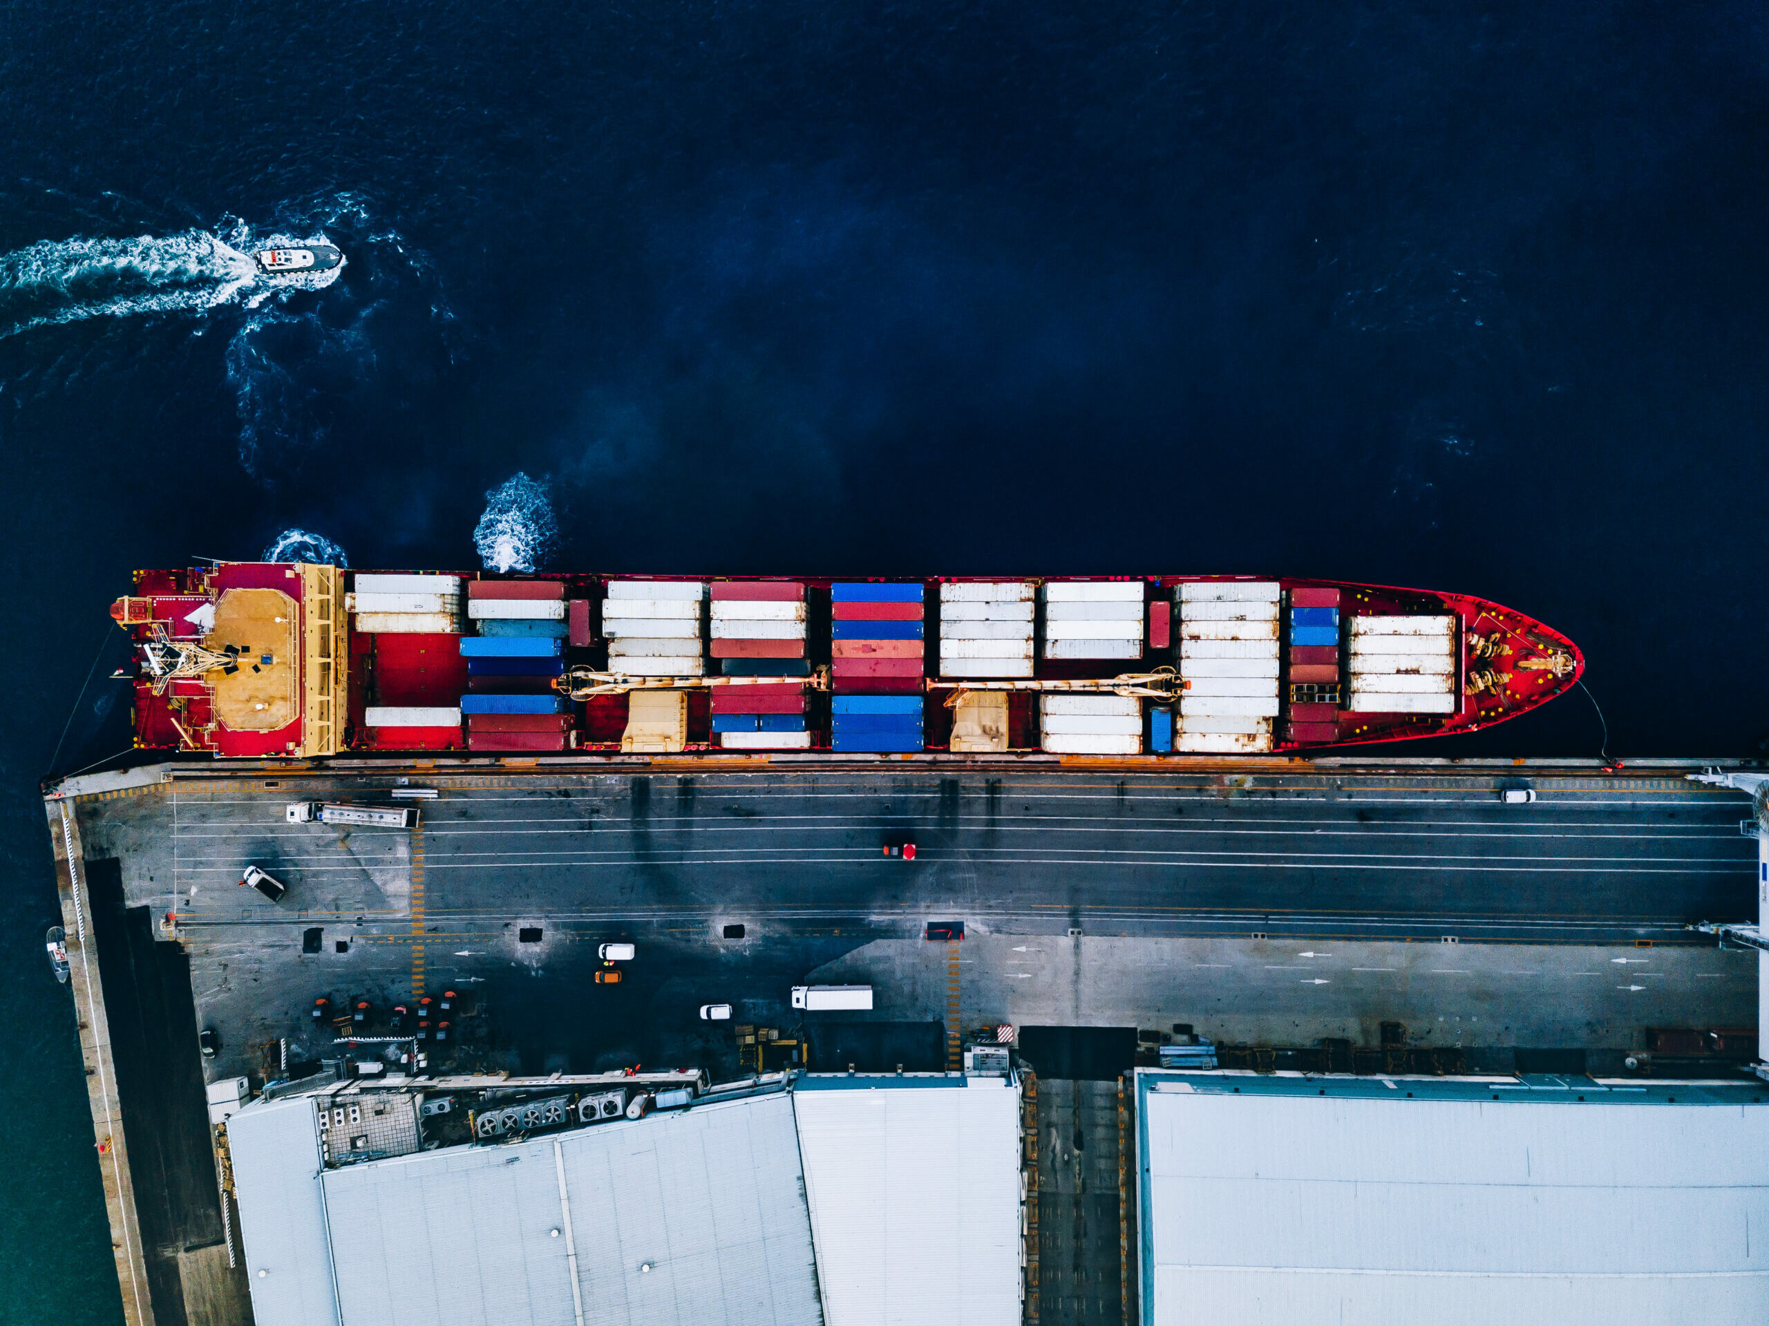
[[1583, 672], [1486, 599], [1258, 576], [138, 571], [134, 743], [219, 758], [1321, 753]]

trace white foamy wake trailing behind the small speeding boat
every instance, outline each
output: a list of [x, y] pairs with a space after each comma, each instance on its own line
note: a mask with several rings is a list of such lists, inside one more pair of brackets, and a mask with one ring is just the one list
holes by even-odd
[[[234, 240], [253, 249], [324, 242], [253, 237], [244, 226]], [[42, 240], [0, 256], [0, 338], [83, 318], [200, 313], [235, 301], [255, 308], [281, 290], [320, 290], [343, 267], [272, 278], [251, 253], [207, 230], [163, 239]]]

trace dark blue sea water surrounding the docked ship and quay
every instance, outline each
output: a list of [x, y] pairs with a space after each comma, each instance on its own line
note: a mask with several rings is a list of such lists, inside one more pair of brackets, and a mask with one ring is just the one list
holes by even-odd
[[564, 566], [1461, 589], [1760, 750], [1764, 12], [0, 9], [0, 1319], [117, 1319], [35, 778], [136, 566], [472, 566], [524, 472]]

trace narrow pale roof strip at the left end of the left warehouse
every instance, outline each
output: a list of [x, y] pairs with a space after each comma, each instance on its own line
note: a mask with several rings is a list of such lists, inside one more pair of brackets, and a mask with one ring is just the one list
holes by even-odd
[[242, 1109], [226, 1121], [226, 1140], [253, 1319], [336, 1326], [313, 1098]]

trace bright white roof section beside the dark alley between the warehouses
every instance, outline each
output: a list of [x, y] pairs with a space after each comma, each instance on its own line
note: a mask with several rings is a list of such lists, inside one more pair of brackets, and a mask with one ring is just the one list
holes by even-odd
[[1017, 1086], [805, 1078], [793, 1105], [830, 1326], [1019, 1322]]

